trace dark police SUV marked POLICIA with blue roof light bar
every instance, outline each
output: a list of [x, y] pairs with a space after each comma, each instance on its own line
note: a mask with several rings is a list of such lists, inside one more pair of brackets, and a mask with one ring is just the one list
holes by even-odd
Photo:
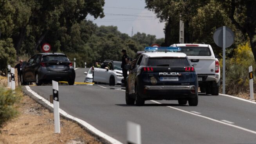
[[146, 47], [135, 65], [125, 65], [126, 104], [146, 100], [178, 100], [180, 105], [198, 104], [198, 79], [187, 55], [179, 47]]

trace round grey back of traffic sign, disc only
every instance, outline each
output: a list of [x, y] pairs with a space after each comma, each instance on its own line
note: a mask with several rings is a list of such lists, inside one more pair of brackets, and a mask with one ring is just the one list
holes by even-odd
[[[230, 47], [234, 43], [234, 32], [228, 28], [225, 28], [225, 48]], [[223, 47], [223, 27], [219, 27], [213, 34], [213, 40], [219, 47]]]

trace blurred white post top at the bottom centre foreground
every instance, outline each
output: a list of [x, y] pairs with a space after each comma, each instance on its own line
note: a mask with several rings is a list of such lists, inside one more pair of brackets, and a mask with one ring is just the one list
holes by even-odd
[[127, 122], [127, 144], [141, 144], [141, 125]]

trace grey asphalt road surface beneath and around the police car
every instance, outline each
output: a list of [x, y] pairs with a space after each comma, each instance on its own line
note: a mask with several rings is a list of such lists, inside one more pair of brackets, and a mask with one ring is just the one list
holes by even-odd
[[[83, 72], [84, 68], [76, 70], [77, 82], [84, 80]], [[121, 88], [62, 85], [59, 105], [70, 115], [123, 143], [126, 143], [127, 121], [141, 125], [143, 144], [256, 143], [256, 104], [200, 94], [198, 106], [179, 106], [177, 101], [146, 101], [145, 106], [127, 106]], [[31, 89], [48, 100], [52, 94], [49, 85]]]

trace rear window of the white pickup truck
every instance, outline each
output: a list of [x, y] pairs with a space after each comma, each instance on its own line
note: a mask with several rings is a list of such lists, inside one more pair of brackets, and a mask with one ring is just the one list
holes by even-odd
[[211, 56], [209, 47], [180, 47], [187, 56]]

